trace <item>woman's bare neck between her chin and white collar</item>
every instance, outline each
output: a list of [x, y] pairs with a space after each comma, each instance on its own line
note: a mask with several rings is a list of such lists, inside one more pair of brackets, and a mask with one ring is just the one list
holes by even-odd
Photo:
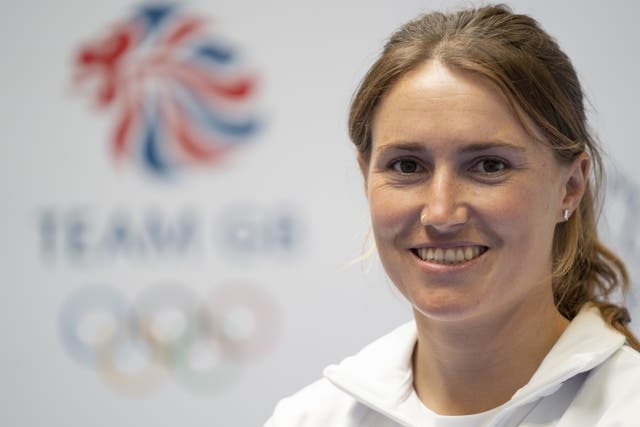
[[480, 413], [507, 402], [568, 325], [553, 301], [464, 321], [418, 312], [415, 318], [414, 387], [427, 407], [443, 415]]

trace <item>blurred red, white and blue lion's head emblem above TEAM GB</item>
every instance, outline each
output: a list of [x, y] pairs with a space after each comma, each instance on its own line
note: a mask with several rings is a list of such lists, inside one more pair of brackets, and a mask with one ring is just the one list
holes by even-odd
[[211, 22], [176, 6], [143, 6], [81, 47], [75, 82], [95, 84], [115, 115], [113, 156], [166, 175], [221, 160], [260, 127], [256, 78]]

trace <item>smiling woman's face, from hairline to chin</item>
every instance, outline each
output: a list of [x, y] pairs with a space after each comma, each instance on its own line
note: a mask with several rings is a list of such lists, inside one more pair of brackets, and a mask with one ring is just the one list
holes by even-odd
[[489, 80], [437, 61], [390, 89], [372, 137], [361, 167], [376, 245], [415, 310], [456, 320], [553, 304], [554, 228], [588, 160], [561, 165]]

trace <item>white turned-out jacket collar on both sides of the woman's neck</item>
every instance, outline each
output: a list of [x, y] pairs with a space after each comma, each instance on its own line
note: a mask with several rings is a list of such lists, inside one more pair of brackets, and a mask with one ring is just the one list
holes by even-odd
[[[417, 340], [414, 322], [374, 341], [358, 354], [324, 371], [336, 387], [396, 421], [398, 406], [413, 390], [411, 359]], [[624, 345], [593, 305], [585, 305], [544, 358], [529, 383], [504, 408], [522, 406], [554, 393], [567, 379], [600, 365]], [[502, 411], [501, 411], [502, 412]]]

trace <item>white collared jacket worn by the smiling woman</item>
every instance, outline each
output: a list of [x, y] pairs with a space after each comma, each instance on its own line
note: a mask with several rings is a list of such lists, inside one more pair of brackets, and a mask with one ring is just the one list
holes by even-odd
[[533, 377], [491, 411], [441, 416], [413, 389], [413, 322], [365, 347], [278, 403], [265, 427], [640, 426], [640, 354], [595, 307], [569, 324]]

